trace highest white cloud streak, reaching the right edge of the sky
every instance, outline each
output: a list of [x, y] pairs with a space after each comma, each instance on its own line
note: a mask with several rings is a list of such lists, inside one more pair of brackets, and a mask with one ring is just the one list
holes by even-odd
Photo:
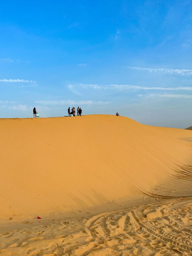
[[151, 68], [140, 68], [140, 67], [127, 67], [128, 69], [135, 69], [148, 72], [162, 72], [166, 74], [177, 74], [177, 75], [192, 75], [192, 69], [151, 69]]

